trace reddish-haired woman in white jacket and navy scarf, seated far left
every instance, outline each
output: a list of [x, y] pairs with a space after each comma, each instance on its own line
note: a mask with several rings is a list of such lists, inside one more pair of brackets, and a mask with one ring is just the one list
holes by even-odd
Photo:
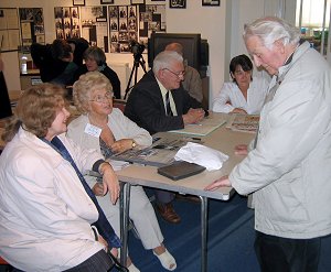
[[0, 255], [23, 271], [106, 272], [113, 261], [104, 249], [108, 243], [117, 254], [120, 241], [81, 172], [103, 173], [113, 203], [119, 184], [98, 152], [63, 134], [70, 117], [64, 94], [52, 84], [25, 90], [3, 134]]

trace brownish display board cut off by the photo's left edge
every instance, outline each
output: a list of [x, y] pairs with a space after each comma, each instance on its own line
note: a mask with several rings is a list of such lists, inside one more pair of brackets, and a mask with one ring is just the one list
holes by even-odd
[[0, 52], [17, 51], [19, 45], [18, 10], [0, 8]]

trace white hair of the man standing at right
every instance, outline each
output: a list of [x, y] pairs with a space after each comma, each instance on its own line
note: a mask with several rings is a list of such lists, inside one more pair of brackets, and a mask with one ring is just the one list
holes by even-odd
[[282, 40], [284, 45], [297, 44], [300, 40], [300, 30], [277, 17], [266, 17], [246, 24], [244, 28], [244, 40], [258, 36], [263, 44], [270, 48], [275, 41]]

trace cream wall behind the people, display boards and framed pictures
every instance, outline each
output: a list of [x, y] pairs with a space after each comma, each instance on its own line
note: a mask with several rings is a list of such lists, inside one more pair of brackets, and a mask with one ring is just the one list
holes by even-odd
[[[238, 54], [246, 53], [242, 40], [243, 26], [245, 23], [256, 18], [263, 17], [265, 12], [270, 15], [276, 14], [281, 0], [221, 0], [221, 7], [202, 7], [201, 0], [186, 0], [186, 9], [169, 9], [169, 1], [166, 0], [167, 8], [167, 32], [169, 33], [201, 33], [210, 44], [210, 101], [217, 94], [224, 80], [228, 80], [229, 59]], [[287, 7], [296, 0], [286, 1]], [[99, 6], [99, 0], [86, 0], [86, 6]], [[146, 3], [151, 2], [146, 0]], [[130, 0], [115, 0], [115, 4], [130, 4]], [[1, 0], [0, 8], [43, 8], [45, 21], [45, 41], [51, 43], [55, 39], [54, 7], [71, 7], [72, 0]], [[293, 7], [290, 4], [289, 7]], [[275, 11], [276, 10], [276, 11]], [[292, 14], [291, 9], [287, 9], [288, 14]], [[289, 15], [287, 15], [288, 18]], [[6, 55], [6, 53], [3, 53]], [[143, 54], [147, 61], [147, 55]], [[4, 57], [8, 62], [10, 57]], [[18, 59], [13, 57], [10, 66], [10, 76], [6, 74], [9, 89], [18, 89]], [[15, 64], [17, 62], [17, 64]], [[134, 64], [132, 54], [107, 54], [108, 63]], [[9, 67], [7, 67], [9, 70]], [[143, 72], [139, 68], [139, 78]], [[121, 83], [127, 85], [127, 83]]]

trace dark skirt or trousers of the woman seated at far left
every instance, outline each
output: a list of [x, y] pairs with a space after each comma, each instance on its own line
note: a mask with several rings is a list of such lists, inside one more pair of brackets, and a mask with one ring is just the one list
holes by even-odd
[[[107, 272], [111, 271], [114, 265], [113, 260], [106, 253], [105, 250], [96, 252], [94, 255], [88, 258], [86, 261], [76, 265], [75, 268], [68, 269], [65, 272]], [[14, 269], [12, 272], [23, 272], [22, 270]]]

